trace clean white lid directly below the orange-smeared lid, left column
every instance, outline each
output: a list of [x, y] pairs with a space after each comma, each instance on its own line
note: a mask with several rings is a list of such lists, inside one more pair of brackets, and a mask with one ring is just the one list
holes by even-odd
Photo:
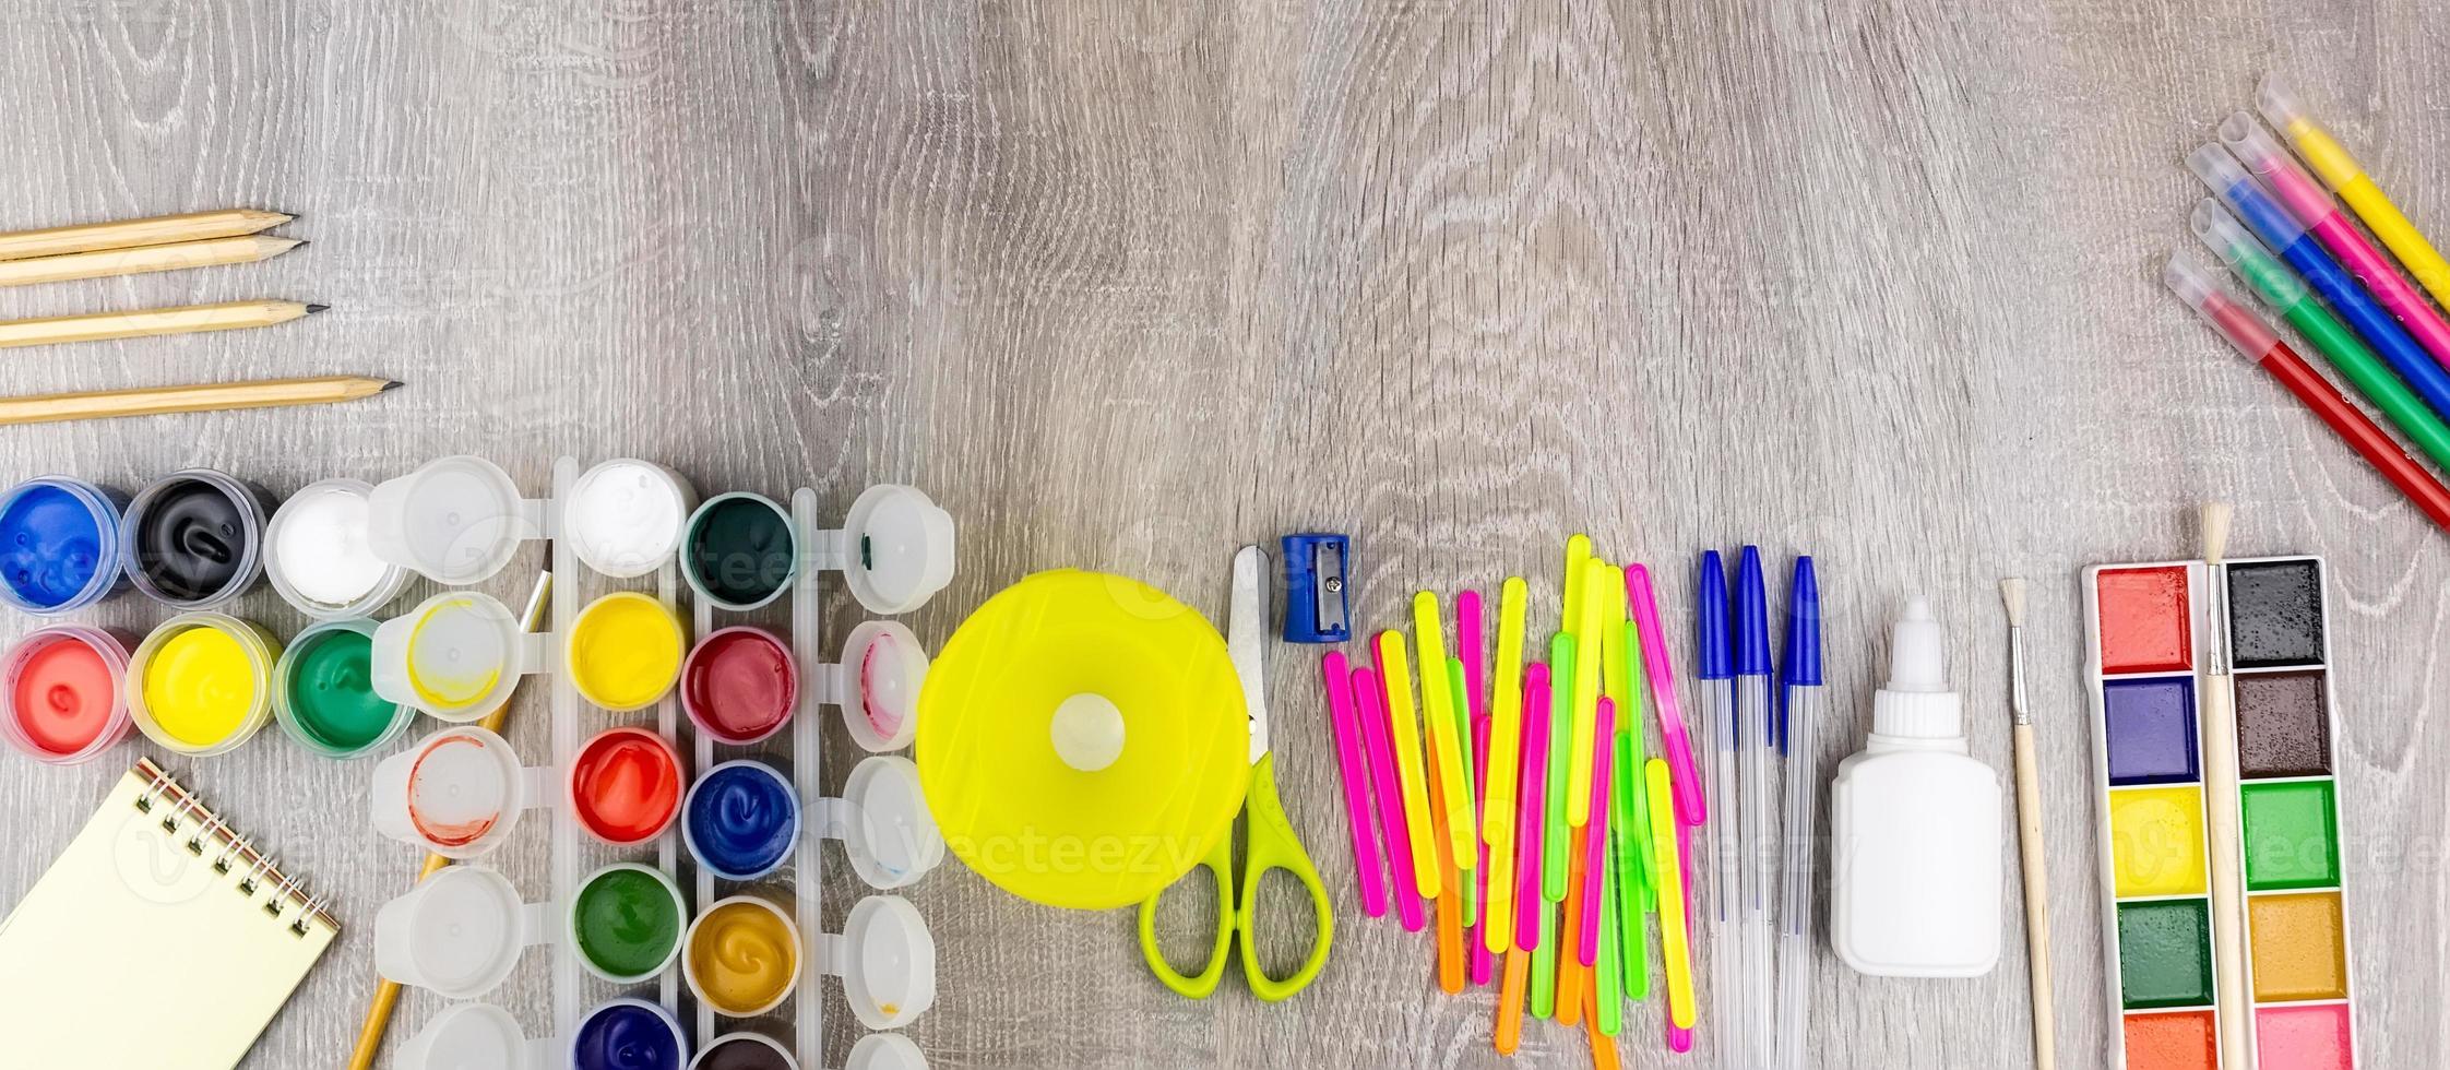
[[441, 867], [375, 911], [375, 972], [448, 999], [483, 997], [527, 945], [551, 940], [546, 913], [549, 904], [522, 904], [495, 869]]

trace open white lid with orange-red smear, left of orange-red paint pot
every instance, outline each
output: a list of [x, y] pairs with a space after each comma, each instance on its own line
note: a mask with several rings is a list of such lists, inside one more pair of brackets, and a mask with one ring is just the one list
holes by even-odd
[[497, 732], [446, 727], [375, 766], [372, 825], [392, 840], [446, 859], [490, 855], [519, 813], [544, 806], [544, 769], [519, 769], [519, 752]]

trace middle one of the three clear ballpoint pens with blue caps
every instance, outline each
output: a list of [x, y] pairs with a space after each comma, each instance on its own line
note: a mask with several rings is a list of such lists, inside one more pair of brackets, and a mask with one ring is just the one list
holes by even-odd
[[1744, 957], [1740, 977], [1744, 982], [1744, 1036], [1752, 1060], [1766, 1065], [1776, 1050], [1776, 982], [1771, 955], [1776, 945], [1776, 921], [1769, 867], [1771, 837], [1769, 818], [1769, 752], [1776, 747], [1776, 722], [1769, 713], [1769, 590], [1762, 580], [1762, 548], [1744, 546], [1735, 566], [1735, 720], [1737, 720], [1737, 867], [1742, 872]]

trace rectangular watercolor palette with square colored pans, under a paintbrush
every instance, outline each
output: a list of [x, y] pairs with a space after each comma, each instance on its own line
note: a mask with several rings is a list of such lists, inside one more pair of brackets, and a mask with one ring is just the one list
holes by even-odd
[[[2325, 593], [2313, 556], [2085, 571], [2105, 977], [2122, 1023], [2112, 1065], [2220, 1068], [2222, 1016], [2239, 1016], [2252, 1065], [2357, 1065], [2337, 781], [2347, 683], [2330, 671]], [[2215, 793], [2212, 688], [2232, 698], [2234, 793]], [[2234, 852], [2215, 842], [2222, 825]], [[2225, 855], [2242, 872], [2217, 872]], [[2215, 918], [2222, 879], [2242, 889], [2234, 926]], [[2222, 950], [2222, 928], [2242, 948]], [[2215, 982], [2222, 952], [2242, 960], [2242, 1006]]]

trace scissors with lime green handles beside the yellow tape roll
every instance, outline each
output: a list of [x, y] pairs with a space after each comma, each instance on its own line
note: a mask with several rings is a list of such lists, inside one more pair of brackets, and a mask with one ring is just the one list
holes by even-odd
[[[1232, 671], [1242, 681], [1242, 708], [1250, 713], [1250, 788], [1242, 796], [1250, 845], [1242, 850], [1242, 894], [1235, 896], [1232, 835], [1223, 835], [1215, 850], [1200, 859], [1200, 867], [1218, 881], [1218, 938], [1208, 950], [1208, 965], [1196, 977], [1174, 972], [1174, 965], [1156, 948], [1156, 901], [1164, 899], [1164, 891], [1139, 904], [1139, 955], [1149, 960], [1149, 972], [1156, 979], [1191, 999], [1208, 999], [1218, 989], [1218, 979], [1225, 977], [1225, 945], [1232, 943], [1235, 933], [1242, 935], [1242, 977], [1250, 982], [1250, 992], [1269, 1004], [1311, 987], [1318, 970], [1328, 965], [1328, 945], [1335, 943], [1328, 886], [1318, 881], [1311, 852], [1301, 850], [1301, 837], [1294, 835], [1294, 823], [1284, 820], [1284, 803], [1276, 801], [1276, 759], [1267, 749], [1267, 681], [1259, 676], [1267, 632], [1259, 561], [1257, 546], [1242, 546], [1232, 556], [1232, 607], [1225, 615], [1225, 651], [1232, 656]], [[1252, 923], [1252, 908], [1259, 904], [1259, 877], [1269, 869], [1294, 874], [1311, 891], [1311, 918], [1318, 926], [1311, 938], [1311, 957], [1281, 982], [1259, 970], [1259, 940]]]

